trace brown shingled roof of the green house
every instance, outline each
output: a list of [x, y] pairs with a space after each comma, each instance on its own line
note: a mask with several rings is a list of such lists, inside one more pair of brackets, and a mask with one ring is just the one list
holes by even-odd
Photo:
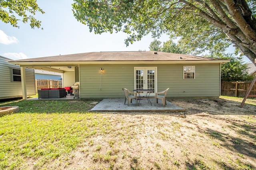
[[70, 55], [58, 55], [17, 62], [62, 62], [62, 61], [218, 61], [220, 59], [154, 51], [90, 52]]

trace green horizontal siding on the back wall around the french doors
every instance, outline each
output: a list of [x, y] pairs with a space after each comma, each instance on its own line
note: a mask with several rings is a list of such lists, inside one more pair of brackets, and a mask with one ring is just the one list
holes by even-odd
[[[196, 66], [195, 79], [183, 79], [183, 66]], [[122, 88], [134, 89], [134, 67], [157, 67], [158, 91], [167, 97], [218, 97], [220, 64], [104, 64], [80, 65], [81, 98], [122, 98]], [[101, 74], [100, 68], [104, 68]]]

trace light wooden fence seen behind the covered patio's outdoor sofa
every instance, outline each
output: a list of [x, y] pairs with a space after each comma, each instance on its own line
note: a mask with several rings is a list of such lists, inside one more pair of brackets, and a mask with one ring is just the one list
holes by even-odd
[[36, 93], [41, 88], [61, 88], [62, 80], [40, 80], [36, 79]]

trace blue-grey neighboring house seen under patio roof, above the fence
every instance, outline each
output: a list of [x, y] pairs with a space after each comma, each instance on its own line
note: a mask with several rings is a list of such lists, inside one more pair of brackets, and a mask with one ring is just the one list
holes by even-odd
[[62, 73], [35, 69], [35, 78], [40, 80], [62, 80]]

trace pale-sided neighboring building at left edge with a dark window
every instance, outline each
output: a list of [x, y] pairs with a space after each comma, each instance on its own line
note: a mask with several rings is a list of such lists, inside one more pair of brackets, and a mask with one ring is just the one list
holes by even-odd
[[[20, 66], [10, 64], [11, 59], [0, 56], [0, 100], [20, 98], [22, 94], [22, 77]], [[25, 68], [26, 94], [36, 94], [34, 69]]]

